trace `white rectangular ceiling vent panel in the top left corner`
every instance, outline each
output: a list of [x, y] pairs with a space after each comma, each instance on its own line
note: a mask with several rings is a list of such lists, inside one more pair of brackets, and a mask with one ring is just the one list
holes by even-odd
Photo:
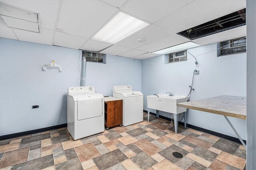
[[39, 14], [0, 2], [0, 16], [10, 28], [39, 33]]

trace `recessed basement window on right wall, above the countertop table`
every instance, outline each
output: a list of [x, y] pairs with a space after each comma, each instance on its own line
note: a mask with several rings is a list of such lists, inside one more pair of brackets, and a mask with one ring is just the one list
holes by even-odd
[[246, 53], [246, 37], [230, 39], [218, 43], [217, 56]]

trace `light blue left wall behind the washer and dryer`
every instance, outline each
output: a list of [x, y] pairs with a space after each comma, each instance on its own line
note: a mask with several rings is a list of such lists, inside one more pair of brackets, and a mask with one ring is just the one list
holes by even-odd
[[[0, 38], [0, 135], [60, 125], [67, 121], [68, 87], [79, 86], [79, 51]], [[55, 60], [63, 72], [42, 71]], [[81, 69], [80, 69], [81, 70]], [[86, 86], [112, 94], [113, 85], [141, 90], [141, 62], [107, 56], [107, 64], [86, 64]], [[32, 105], [39, 105], [32, 109]]]

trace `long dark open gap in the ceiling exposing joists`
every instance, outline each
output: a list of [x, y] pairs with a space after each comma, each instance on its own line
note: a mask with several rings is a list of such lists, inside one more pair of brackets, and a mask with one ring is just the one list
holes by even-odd
[[190, 40], [246, 25], [246, 8], [179, 32]]

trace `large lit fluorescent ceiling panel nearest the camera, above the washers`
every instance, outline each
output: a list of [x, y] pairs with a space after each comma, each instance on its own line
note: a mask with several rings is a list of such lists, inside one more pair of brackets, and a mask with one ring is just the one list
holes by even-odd
[[114, 44], [147, 25], [144, 21], [119, 12], [92, 39]]

